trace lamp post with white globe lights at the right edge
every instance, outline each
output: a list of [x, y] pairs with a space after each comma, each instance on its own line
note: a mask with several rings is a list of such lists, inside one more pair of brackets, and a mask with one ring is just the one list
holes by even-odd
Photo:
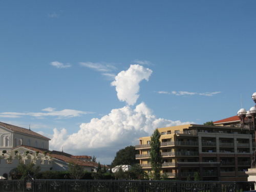
[[[252, 99], [256, 103], [256, 93], [252, 94]], [[252, 130], [251, 127], [254, 130], [254, 136], [255, 136], [255, 143], [256, 143], [256, 123], [255, 123], [255, 117], [256, 117], [256, 104], [255, 106], [252, 106], [249, 111], [246, 111], [245, 109], [241, 109], [238, 111], [238, 117], [241, 120], [241, 130], [245, 130], [245, 125], [249, 125], [249, 130]], [[256, 164], [256, 150], [254, 151], [254, 159], [251, 163], [251, 168], [255, 167]]]

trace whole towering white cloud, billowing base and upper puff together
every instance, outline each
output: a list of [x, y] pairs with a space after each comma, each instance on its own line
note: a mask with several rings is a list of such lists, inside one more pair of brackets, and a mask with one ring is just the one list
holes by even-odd
[[[111, 84], [116, 86], [121, 101], [133, 105], [138, 99], [139, 82], [148, 80], [152, 70], [139, 65], [131, 65], [120, 72]], [[138, 144], [139, 137], [150, 136], [157, 127], [175, 126], [193, 122], [180, 122], [157, 118], [142, 102], [134, 109], [131, 106], [113, 109], [101, 119], [93, 118], [82, 123], [77, 133], [68, 135], [65, 129], [54, 129], [50, 146], [54, 150], [65, 148], [65, 152], [76, 155], [95, 155], [100, 162], [110, 163], [121, 148]]]

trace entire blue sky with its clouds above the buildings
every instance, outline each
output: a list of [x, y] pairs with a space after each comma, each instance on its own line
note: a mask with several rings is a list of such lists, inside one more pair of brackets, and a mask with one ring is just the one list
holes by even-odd
[[255, 1], [1, 1], [0, 121], [115, 153], [253, 106]]

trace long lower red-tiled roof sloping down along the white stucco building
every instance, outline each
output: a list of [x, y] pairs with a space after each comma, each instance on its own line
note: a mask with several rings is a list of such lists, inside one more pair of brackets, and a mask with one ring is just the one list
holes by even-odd
[[[26, 145], [19, 145], [17, 147], [12, 148], [12, 150], [14, 150], [15, 148], [18, 148], [20, 146], [28, 148], [29, 150], [32, 150], [32, 151], [35, 151], [35, 152], [38, 151], [40, 154], [43, 154], [43, 155], [44, 155], [44, 152], [46, 151], [47, 156], [52, 156], [55, 159], [65, 161], [67, 163], [74, 162], [74, 163], [77, 163], [80, 166], [89, 166], [89, 167], [97, 167], [98, 166], [98, 163], [90, 162], [90, 161], [82, 161], [82, 160], [79, 160], [79, 159], [74, 159], [74, 158], [72, 158], [72, 155], [64, 153], [64, 152], [52, 151], [52, 154], [49, 154], [49, 152], [51, 152], [51, 151], [46, 150], [44, 148], [38, 148], [38, 147], [32, 147], [32, 146], [26, 146]], [[103, 166], [104, 165], [101, 165], [101, 167], [103, 167]], [[108, 167], [106, 166], [106, 168], [108, 168]]]

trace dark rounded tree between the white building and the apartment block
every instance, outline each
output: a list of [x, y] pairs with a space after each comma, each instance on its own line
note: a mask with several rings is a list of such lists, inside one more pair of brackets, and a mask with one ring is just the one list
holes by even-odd
[[136, 154], [138, 150], [135, 150], [135, 146], [126, 146], [118, 152], [116, 152], [116, 157], [111, 163], [111, 167], [117, 165], [134, 165], [139, 163], [139, 160], [136, 160]]

